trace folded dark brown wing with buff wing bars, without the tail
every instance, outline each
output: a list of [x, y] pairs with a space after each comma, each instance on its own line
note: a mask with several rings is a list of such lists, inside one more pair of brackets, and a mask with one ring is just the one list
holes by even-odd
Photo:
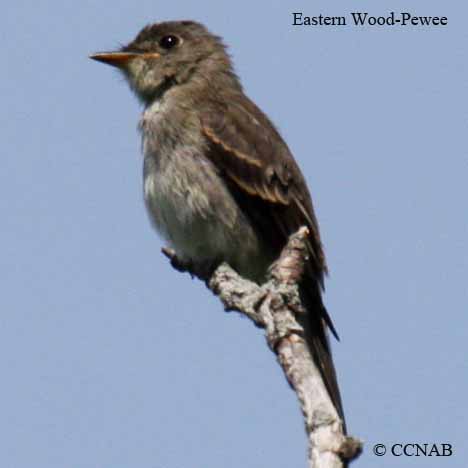
[[[269, 119], [245, 96], [202, 112], [208, 157], [227, 179], [242, 208], [281, 249], [301, 226], [310, 231], [313, 276], [323, 285], [325, 256], [304, 178]], [[261, 218], [261, 219], [260, 219]], [[276, 244], [276, 245], [275, 245]]]

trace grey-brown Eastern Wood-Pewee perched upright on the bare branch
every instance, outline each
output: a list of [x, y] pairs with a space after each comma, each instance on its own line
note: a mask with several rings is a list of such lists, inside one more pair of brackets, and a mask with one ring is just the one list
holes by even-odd
[[200, 268], [227, 262], [261, 284], [288, 237], [307, 227], [305, 338], [344, 425], [311, 195], [279, 131], [245, 94], [222, 38], [195, 21], [157, 22], [90, 58], [119, 69], [143, 105], [145, 204], [177, 258]]

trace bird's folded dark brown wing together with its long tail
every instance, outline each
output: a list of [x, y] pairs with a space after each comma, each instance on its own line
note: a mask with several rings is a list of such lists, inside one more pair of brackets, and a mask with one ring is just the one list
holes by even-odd
[[304, 178], [269, 119], [245, 96], [216, 103], [201, 112], [207, 156], [231, 188], [244, 213], [279, 254], [289, 235], [307, 226], [309, 261], [301, 283], [307, 308], [306, 340], [325, 385], [344, 421], [326, 325], [337, 336], [325, 309], [321, 288], [325, 256]]

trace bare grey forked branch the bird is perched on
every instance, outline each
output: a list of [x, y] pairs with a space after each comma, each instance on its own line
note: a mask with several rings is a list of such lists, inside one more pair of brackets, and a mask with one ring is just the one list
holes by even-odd
[[309, 468], [342, 468], [359, 456], [362, 443], [343, 433], [343, 423], [329, 397], [321, 373], [296, 319], [303, 310], [298, 281], [307, 260], [307, 228], [293, 234], [279, 259], [271, 266], [268, 281], [259, 286], [240, 277], [223, 263], [211, 275], [182, 265], [174, 252], [164, 252], [179, 271], [189, 271], [206, 281], [223, 302], [265, 329], [268, 346], [276, 354], [284, 374], [296, 392], [309, 440]]

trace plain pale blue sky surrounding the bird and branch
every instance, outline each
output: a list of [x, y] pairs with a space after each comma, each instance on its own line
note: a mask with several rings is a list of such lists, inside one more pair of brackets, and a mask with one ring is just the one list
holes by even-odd
[[[145, 24], [196, 19], [311, 189], [342, 337], [334, 355], [356, 467], [466, 465], [467, 8], [445, 28], [291, 26], [291, 13], [404, 2], [4, 5], [0, 464], [305, 466], [295, 395], [259, 330], [160, 254], [142, 201], [140, 106], [87, 56]], [[451, 443], [376, 458], [375, 443]]]

